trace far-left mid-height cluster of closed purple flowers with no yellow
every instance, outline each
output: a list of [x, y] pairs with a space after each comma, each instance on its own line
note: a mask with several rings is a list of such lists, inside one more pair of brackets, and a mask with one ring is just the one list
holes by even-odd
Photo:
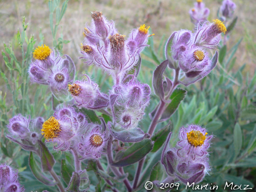
[[37, 140], [41, 140], [40, 129], [44, 123], [42, 117], [37, 117], [30, 120], [30, 117], [24, 117], [18, 114], [12, 117], [10, 123], [7, 125], [10, 135], [7, 138], [20, 144], [20, 146], [29, 151], [37, 151], [35, 144]]

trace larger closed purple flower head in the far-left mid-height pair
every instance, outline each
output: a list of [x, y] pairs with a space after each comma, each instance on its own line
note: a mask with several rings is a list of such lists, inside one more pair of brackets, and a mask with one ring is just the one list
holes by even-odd
[[12, 117], [10, 123], [7, 125], [10, 133], [13, 136], [18, 136], [20, 138], [26, 138], [29, 133], [29, 121], [30, 117], [23, 117], [21, 114], [18, 114]]

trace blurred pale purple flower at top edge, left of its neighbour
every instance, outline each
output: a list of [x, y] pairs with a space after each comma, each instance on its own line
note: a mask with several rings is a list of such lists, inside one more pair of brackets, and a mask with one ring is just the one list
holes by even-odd
[[199, 21], [206, 21], [210, 10], [205, 7], [202, 0], [197, 0], [195, 7], [189, 10], [192, 23], [197, 24]]

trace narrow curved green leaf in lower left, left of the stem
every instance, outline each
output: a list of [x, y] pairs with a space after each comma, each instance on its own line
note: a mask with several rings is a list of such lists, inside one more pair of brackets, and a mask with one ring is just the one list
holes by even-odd
[[30, 155], [29, 155], [29, 167], [31, 169], [31, 172], [33, 173], [35, 178], [37, 178], [38, 181], [44, 183], [45, 185], [49, 185], [49, 186], [53, 186], [53, 185], [57, 184], [56, 182], [49, 180], [46, 177], [46, 175], [42, 172], [38, 163], [35, 161], [32, 151], [30, 151]]

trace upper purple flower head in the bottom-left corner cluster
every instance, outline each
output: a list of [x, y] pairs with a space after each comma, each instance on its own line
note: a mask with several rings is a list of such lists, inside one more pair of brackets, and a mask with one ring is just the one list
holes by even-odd
[[0, 189], [1, 186], [9, 182], [14, 182], [18, 178], [18, 170], [13, 169], [11, 166], [0, 164]]

